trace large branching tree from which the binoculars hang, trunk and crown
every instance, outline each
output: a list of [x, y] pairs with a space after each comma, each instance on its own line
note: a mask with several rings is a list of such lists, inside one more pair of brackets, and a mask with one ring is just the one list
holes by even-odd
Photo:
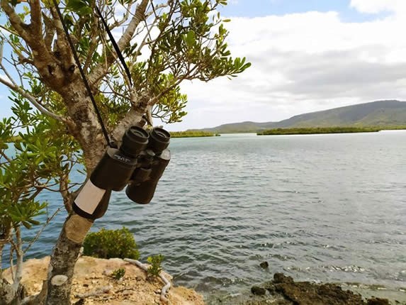
[[[1, 25], [1, 46], [12, 49], [11, 55], [1, 58], [6, 77], [0, 77], [0, 82], [57, 121], [58, 131], [72, 136], [89, 175], [106, 141], [55, 3], [0, 0], [7, 17]], [[152, 118], [181, 121], [187, 98], [179, 84], [184, 80], [234, 77], [249, 67], [244, 58], [233, 59], [227, 49], [228, 32], [223, 26], [227, 20], [218, 13], [218, 6], [226, 4], [226, 0], [67, 0], [58, 4], [111, 140], [119, 143], [129, 126], [145, 125]], [[131, 79], [116, 58], [97, 7], [108, 28], [119, 36], [117, 45]], [[44, 285], [47, 304], [69, 304], [74, 265], [92, 225], [72, 212], [74, 192], [66, 187], [68, 181], [66, 175], [58, 179], [65, 186], [60, 189], [64, 189], [69, 216], [52, 253]]]

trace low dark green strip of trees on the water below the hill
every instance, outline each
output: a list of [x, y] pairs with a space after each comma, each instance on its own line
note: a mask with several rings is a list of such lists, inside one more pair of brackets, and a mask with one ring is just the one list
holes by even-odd
[[[261, 131], [257, 135], [311, 135], [317, 133], [375, 133], [388, 129], [385, 127], [314, 127], [314, 128], [276, 128]], [[390, 128], [402, 129], [402, 128]]]

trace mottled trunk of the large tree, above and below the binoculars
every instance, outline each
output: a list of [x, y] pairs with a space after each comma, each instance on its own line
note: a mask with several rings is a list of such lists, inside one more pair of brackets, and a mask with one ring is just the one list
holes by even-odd
[[[62, 97], [64, 104], [67, 105], [69, 116], [75, 124], [74, 130], [69, 131], [81, 145], [89, 176], [106, 150], [106, 140], [103, 139], [96, 113], [81, 82], [67, 86], [62, 92]], [[145, 106], [137, 107], [137, 111], [129, 111], [123, 121], [118, 123], [113, 135], [121, 139], [128, 126], [141, 121], [142, 114], [145, 113]], [[60, 237], [51, 255], [47, 285], [43, 288], [47, 289], [45, 304], [70, 304], [74, 266], [79, 257], [81, 245], [92, 224], [93, 221], [74, 212], [64, 222]]]

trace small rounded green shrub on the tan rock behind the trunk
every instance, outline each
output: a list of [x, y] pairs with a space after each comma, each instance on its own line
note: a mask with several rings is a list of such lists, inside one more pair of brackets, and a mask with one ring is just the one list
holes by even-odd
[[132, 258], [138, 260], [140, 253], [137, 250], [134, 236], [128, 228], [118, 230], [105, 230], [89, 233], [83, 244], [83, 254], [99, 258]]

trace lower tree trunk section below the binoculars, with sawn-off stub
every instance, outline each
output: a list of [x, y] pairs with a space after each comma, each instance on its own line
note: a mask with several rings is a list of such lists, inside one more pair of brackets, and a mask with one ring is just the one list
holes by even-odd
[[70, 304], [74, 265], [86, 233], [93, 224], [89, 219], [70, 214], [51, 256], [47, 276], [47, 305]]

